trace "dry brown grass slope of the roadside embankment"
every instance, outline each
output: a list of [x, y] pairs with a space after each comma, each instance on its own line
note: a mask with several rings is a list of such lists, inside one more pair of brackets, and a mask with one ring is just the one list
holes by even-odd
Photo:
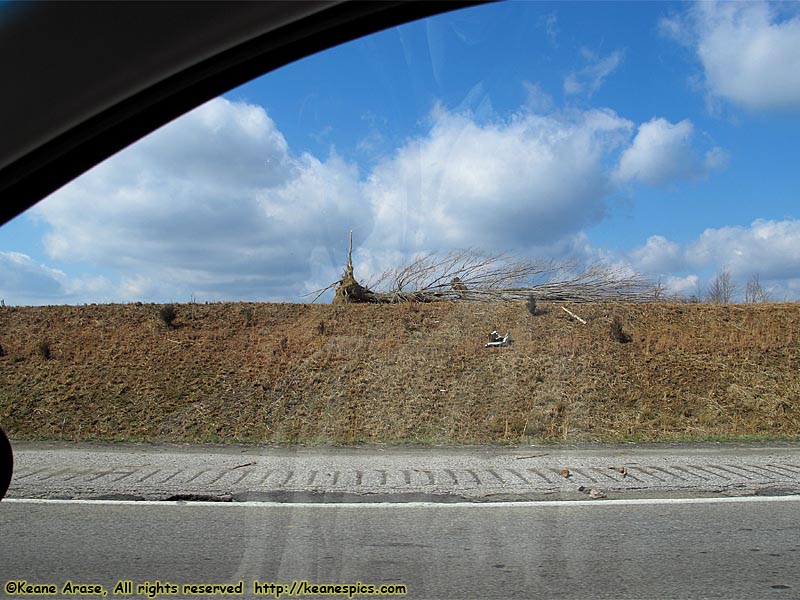
[[[586, 325], [542, 302], [191, 304], [173, 329], [160, 308], [0, 308], [0, 423], [186, 442], [800, 433], [800, 304], [572, 306]], [[484, 348], [493, 329], [514, 343]]]

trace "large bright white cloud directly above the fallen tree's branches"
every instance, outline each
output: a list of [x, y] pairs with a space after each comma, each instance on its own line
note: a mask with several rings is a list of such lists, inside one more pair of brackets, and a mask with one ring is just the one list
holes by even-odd
[[439, 110], [425, 136], [368, 178], [368, 245], [517, 248], [574, 234], [602, 217], [610, 189], [603, 160], [632, 126], [601, 110], [489, 124]]

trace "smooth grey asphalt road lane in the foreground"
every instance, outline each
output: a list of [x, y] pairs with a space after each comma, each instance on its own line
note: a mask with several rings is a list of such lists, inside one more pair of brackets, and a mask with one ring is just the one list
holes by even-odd
[[275, 597], [276, 588], [255, 595], [254, 581], [306, 580], [405, 584], [409, 598], [800, 597], [797, 496], [479, 504], [4, 500], [0, 540], [6, 593], [9, 580], [59, 590], [67, 580], [98, 583], [109, 597], [119, 580], [241, 580], [245, 593], [235, 597], [257, 598]]

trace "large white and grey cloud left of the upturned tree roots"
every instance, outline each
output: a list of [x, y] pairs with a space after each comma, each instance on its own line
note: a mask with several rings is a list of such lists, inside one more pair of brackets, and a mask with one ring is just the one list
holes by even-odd
[[314, 248], [369, 229], [364, 205], [356, 167], [295, 156], [263, 108], [216, 99], [34, 215], [50, 225], [51, 258], [118, 269], [120, 295], [263, 299], [303, 291]]

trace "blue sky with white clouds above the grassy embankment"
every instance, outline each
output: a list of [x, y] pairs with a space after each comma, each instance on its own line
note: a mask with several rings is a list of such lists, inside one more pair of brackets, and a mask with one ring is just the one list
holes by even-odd
[[800, 4], [507, 2], [232, 90], [0, 229], [6, 304], [304, 301], [478, 248], [800, 299]]

